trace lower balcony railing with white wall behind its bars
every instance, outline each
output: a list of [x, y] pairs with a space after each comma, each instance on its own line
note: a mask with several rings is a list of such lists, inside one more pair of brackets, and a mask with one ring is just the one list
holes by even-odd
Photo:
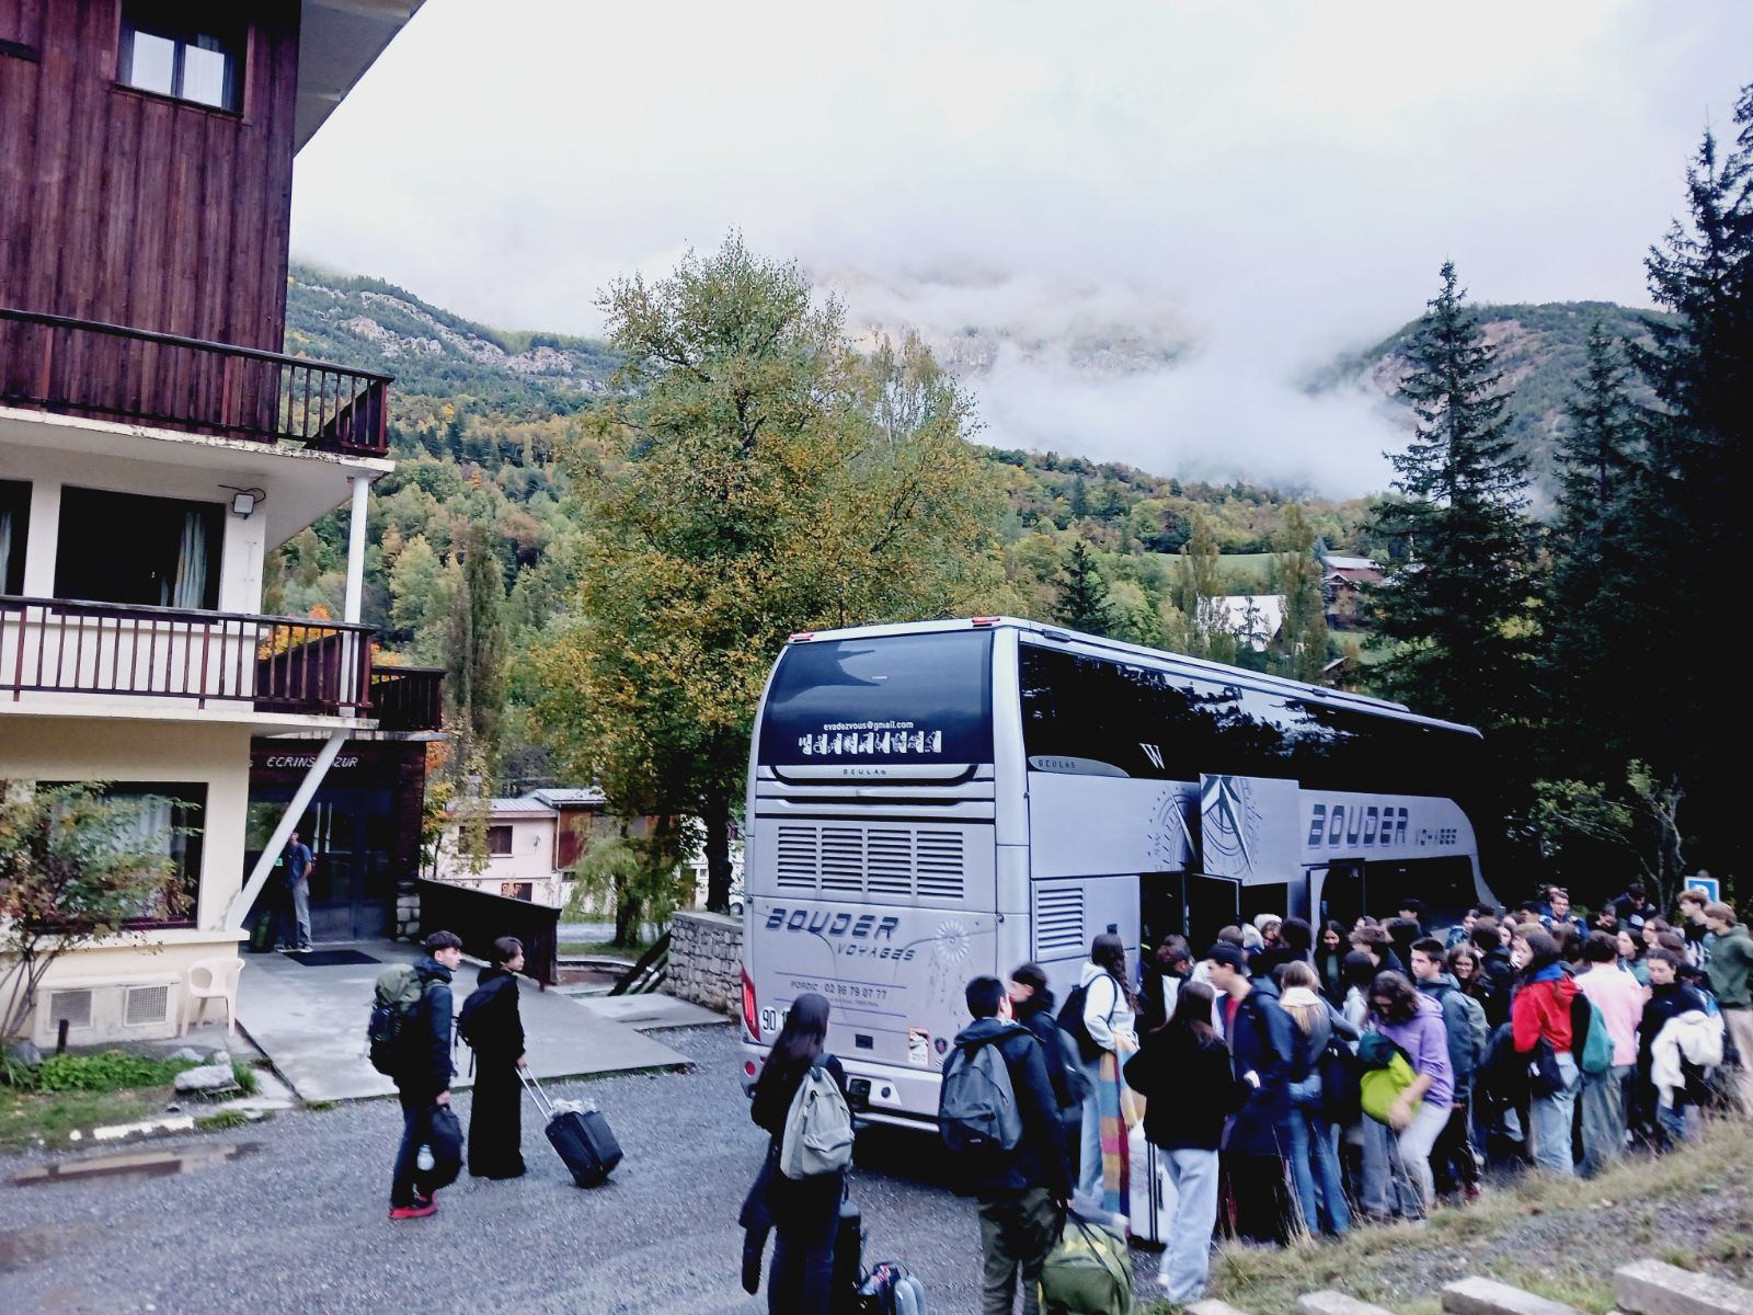
[[256, 712], [363, 717], [372, 628], [0, 594], [0, 696], [247, 703]]

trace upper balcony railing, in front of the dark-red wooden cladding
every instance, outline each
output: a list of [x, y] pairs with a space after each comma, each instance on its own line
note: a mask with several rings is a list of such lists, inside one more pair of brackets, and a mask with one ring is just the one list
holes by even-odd
[[389, 375], [7, 307], [0, 403], [333, 452], [389, 451]]

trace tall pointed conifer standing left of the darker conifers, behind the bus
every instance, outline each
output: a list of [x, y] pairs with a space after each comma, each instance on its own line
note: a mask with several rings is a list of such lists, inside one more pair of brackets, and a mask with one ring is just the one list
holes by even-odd
[[1374, 530], [1406, 549], [1373, 594], [1378, 679], [1416, 710], [1480, 726], [1513, 717], [1525, 689], [1527, 458], [1508, 433], [1508, 391], [1453, 263], [1418, 323], [1401, 396], [1418, 417], [1388, 452], [1404, 494], [1374, 508]]

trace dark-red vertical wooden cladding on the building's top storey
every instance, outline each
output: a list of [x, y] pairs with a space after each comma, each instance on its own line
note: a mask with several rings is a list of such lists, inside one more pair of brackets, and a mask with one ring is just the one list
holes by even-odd
[[249, 9], [230, 114], [117, 84], [121, 0], [0, 0], [0, 305], [280, 351], [298, 0]]

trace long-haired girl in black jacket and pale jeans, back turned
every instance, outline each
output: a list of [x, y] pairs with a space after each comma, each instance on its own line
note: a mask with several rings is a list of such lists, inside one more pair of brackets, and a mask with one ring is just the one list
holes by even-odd
[[1252, 1091], [1238, 1082], [1229, 1048], [1211, 1026], [1217, 994], [1204, 982], [1183, 982], [1162, 1027], [1125, 1063], [1125, 1080], [1146, 1098], [1145, 1136], [1162, 1152], [1175, 1184], [1169, 1248], [1159, 1268], [1164, 1296], [1178, 1306], [1204, 1294], [1217, 1226], [1218, 1143], [1224, 1120]]

